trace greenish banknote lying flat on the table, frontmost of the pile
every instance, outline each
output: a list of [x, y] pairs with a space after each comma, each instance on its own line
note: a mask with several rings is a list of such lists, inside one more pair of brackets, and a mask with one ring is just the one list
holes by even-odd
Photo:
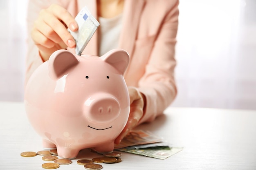
[[144, 155], [146, 157], [153, 157], [157, 159], [166, 159], [172, 155], [180, 152], [183, 148], [179, 147], [152, 147], [152, 148], [141, 148], [141, 149], [118, 149], [123, 152], [129, 152], [137, 155]]

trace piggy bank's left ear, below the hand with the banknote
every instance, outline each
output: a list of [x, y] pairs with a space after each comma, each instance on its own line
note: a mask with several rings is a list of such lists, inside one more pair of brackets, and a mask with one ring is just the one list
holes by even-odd
[[62, 77], [68, 69], [76, 66], [79, 61], [67, 50], [57, 50], [49, 58], [49, 75], [52, 79]]

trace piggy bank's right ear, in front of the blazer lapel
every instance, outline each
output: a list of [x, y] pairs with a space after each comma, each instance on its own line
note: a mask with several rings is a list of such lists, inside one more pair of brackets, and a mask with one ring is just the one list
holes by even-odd
[[115, 67], [120, 74], [124, 75], [130, 60], [129, 54], [126, 51], [122, 49], [113, 49], [102, 57], [105, 62]]

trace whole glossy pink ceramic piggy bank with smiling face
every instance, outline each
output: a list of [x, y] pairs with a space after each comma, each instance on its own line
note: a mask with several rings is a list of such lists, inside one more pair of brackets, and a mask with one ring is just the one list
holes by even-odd
[[43, 148], [70, 159], [84, 148], [112, 152], [130, 112], [128, 63], [128, 53], [114, 49], [101, 57], [58, 50], [41, 64], [27, 82], [24, 104]]

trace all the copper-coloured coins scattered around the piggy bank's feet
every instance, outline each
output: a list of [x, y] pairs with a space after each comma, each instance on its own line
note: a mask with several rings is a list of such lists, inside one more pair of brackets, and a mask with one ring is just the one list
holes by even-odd
[[[53, 163], [43, 163], [42, 168], [45, 169], [56, 169], [59, 168], [60, 165], [68, 165], [72, 163], [70, 159], [58, 159], [57, 150], [40, 150], [38, 152], [22, 152], [20, 154], [22, 157], [35, 157], [36, 155], [43, 156], [42, 159], [44, 161], [53, 161]], [[103, 168], [102, 165], [98, 163], [119, 163], [122, 161], [120, 152], [112, 152], [103, 154], [103, 157], [96, 157], [92, 160], [90, 159], [79, 159], [77, 164], [83, 165], [87, 170], [100, 170]]]

